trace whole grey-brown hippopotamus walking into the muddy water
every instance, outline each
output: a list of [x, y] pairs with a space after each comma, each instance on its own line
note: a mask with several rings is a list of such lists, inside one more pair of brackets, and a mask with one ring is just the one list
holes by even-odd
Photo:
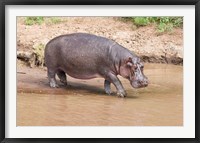
[[61, 35], [46, 44], [44, 53], [49, 84], [53, 88], [59, 87], [56, 74], [65, 85], [66, 74], [78, 79], [102, 77], [105, 93], [112, 93], [112, 83], [119, 97], [127, 94], [117, 75], [128, 79], [134, 88], [148, 85], [140, 58], [108, 38], [87, 33]]

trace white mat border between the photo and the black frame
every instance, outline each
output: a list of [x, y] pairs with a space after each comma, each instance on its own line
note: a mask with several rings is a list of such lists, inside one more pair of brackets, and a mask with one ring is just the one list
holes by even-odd
[[[6, 138], [194, 138], [195, 6], [20, 6], [6, 10]], [[16, 16], [184, 16], [183, 127], [16, 127]]]

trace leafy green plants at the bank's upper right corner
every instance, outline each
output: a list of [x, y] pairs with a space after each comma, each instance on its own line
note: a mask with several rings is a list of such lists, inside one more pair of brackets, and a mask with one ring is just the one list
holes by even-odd
[[174, 27], [183, 26], [183, 17], [123, 17], [136, 26], [156, 24], [158, 32], [172, 31]]

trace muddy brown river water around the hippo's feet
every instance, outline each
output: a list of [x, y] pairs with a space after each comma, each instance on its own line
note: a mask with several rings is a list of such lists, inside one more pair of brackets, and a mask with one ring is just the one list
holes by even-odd
[[128, 96], [118, 98], [102, 78], [68, 77], [68, 87], [51, 89], [45, 69], [18, 68], [17, 126], [182, 126], [183, 67], [145, 64], [144, 73], [146, 88], [120, 78]]

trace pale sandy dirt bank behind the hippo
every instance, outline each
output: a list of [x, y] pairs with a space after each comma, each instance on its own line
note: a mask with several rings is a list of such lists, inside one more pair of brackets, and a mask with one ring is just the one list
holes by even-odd
[[[59, 35], [69, 33], [91, 33], [113, 39], [122, 46], [135, 52], [144, 62], [183, 64], [183, 30], [159, 34], [155, 25], [137, 28], [133, 23], [124, 22], [117, 17], [65, 17], [59, 24], [32, 25], [24, 24], [23, 18], [17, 18], [17, 51], [32, 55], [26, 59], [34, 65], [42, 64], [33, 47], [46, 43]], [[19, 59], [20, 58], [18, 56]], [[24, 60], [24, 59], [23, 59]], [[29, 63], [29, 65], [31, 65]]]

